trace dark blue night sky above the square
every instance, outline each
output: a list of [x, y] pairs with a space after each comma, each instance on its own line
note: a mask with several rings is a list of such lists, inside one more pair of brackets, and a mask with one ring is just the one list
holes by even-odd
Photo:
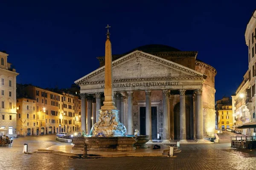
[[248, 68], [244, 32], [255, 0], [125, 2], [1, 1], [0, 50], [17, 82], [69, 88], [99, 67], [109, 24], [113, 54], [146, 44], [198, 51], [218, 72], [215, 98], [236, 91]]

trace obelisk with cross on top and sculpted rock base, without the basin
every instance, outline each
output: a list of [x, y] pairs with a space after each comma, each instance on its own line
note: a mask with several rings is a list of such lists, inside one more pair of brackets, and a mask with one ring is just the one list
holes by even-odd
[[[110, 28], [107, 26], [106, 28]], [[113, 102], [113, 80], [112, 80], [112, 51], [110, 42], [110, 33], [107, 32], [105, 44], [105, 101], [101, 110], [99, 110], [99, 121], [94, 124], [93, 136], [111, 137], [125, 136], [126, 129], [119, 122], [118, 110]]]

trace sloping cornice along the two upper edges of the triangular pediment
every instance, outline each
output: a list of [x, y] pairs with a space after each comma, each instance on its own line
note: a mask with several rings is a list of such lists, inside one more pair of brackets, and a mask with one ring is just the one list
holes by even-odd
[[[178, 64], [176, 65], [174, 62], [171, 63], [171, 61], [167, 61], [166, 59], [163, 59], [163, 58], [160, 58], [160, 57], [157, 57], [157, 56], [154, 57], [154, 56], [151, 56], [151, 55], [147, 55], [147, 54], [144, 54], [143, 52], [140, 52], [140, 51], [134, 52], [131, 55], [123, 56], [123, 58], [121, 57], [120, 59], [117, 59], [117, 60], [113, 61], [112, 67], [114, 67], [116, 65], [119, 65], [120, 63], [125, 62], [126, 60], [137, 57], [137, 56], [145, 57], [145, 58], [150, 59], [152, 61], [161, 63], [163, 65], [167, 65], [167, 66], [170, 66], [172, 68], [176, 68], [180, 71], [186, 72], [187, 74], [191, 74], [191, 75], [196, 76], [196, 77], [201, 77], [200, 74], [196, 73], [197, 71], [194, 72], [191, 69], [183, 68], [182, 66], [179, 66]], [[91, 77], [94, 77], [97, 74], [102, 73], [103, 71], [105, 71], [105, 66], [103, 66], [102, 68], [99, 68], [98, 71], [92, 72], [92, 74], [89, 74], [88, 76], [79, 79], [79, 81], [76, 82], [76, 84], [82, 84], [82, 82], [84, 82], [85, 80], [90, 79]]]

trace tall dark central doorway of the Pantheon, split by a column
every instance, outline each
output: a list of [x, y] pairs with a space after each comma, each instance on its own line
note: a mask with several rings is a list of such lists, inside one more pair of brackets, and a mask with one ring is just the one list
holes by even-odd
[[[146, 108], [140, 107], [140, 134], [146, 135]], [[157, 107], [151, 107], [151, 134], [157, 139]]]

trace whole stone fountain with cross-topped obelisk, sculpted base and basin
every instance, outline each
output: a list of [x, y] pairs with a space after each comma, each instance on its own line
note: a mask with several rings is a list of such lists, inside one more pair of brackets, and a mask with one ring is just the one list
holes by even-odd
[[[106, 28], [110, 28], [107, 26]], [[99, 121], [93, 125], [93, 134], [73, 139], [73, 149], [81, 149], [84, 144], [88, 150], [135, 150], [146, 148], [149, 136], [125, 136], [126, 128], [119, 122], [118, 110], [113, 102], [112, 52], [110, 33], [107, 32], [105, 43], [105, 101], [99, 110]]]

